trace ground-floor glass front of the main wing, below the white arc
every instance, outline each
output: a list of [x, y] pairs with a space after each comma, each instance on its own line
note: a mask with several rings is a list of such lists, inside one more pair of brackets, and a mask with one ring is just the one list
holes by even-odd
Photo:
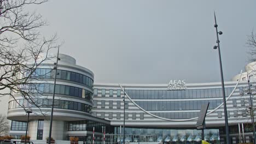
[[[201, 143], [201, 133], [196, 129], [125, 128], [125, 142]], [[218, 129], [205, 129], [204, 134], [206, 141], [220, 143]], [[123, 142], [123, 134], [120, 139], [120, 128], [115, 127], [114, 142], [119, 141]]]

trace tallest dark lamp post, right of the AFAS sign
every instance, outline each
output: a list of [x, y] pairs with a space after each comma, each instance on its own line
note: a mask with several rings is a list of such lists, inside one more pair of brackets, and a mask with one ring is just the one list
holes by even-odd
[[222, 79], [222, 96], [223, 96], [224, 115], [225, 115], [226, 143], [230, 144], [228, 113], [226, 112], [226, 97], [225, 97], [225, 87], [224, 87], [223, 70], [222, 70], [222, 57], [220, 56], [220, 47], [219, 47], [219, 35], [222, 35], [222, 31], [218, 32], [218, 25], [217, 25], [217, 22], [216, 22], [216, 15], [215, 15], [215, 13], [214, 13], [214, 20], [215, 20], [214, 27], [216, 28], [216, 34], [217, 34], [217, 41], [216, 41], [216, 43], [218, 45], [214, 46], [213, 49], [217, 49], [218, 48], [218, 52], [219, 52], [220, 77]]

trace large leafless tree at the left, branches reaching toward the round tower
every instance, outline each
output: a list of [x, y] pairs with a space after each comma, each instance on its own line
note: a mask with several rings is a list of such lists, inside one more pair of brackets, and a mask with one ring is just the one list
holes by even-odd
[[40, 34], [39, 29], [47, 25], [42, 15], [30, 13], [26, 8], [46, 1], [0, 0], [0, 91], [5, 90], [0, 97], [11, 95], [15, 99], [15, 94], [21, 94], [27, 103], [36, 107], [41, 105], [32, 94], [35, 89], [38, 92], [34, 80], [43, 77], [36, 69], [53, 58], [49, 53], [59, 45], [56, 35], [44, 38]]

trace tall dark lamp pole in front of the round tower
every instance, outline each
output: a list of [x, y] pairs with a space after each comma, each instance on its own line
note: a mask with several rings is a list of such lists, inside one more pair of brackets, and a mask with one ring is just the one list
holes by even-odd
[[55, 66], [54, 93], [53, 93], [53, 104], [51, 104], [51, 120], [50, 120], [50, 130], [49, 130], [48, 143], [51, 143], [51, 128], [53, 127], [54, 97], [55, 97], [55, 86], [56, 86], [57, 67], [58, 67], [58, 61], [59, 61], [59, 50], [60, 50], [60, 47], [58, 47], [57, 61], [56, 61], [56, 66]]

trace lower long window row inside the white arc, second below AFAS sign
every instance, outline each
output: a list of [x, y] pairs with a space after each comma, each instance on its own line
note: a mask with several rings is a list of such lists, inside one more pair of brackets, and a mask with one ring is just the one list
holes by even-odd
[[209, 104], [208, 109], [215, 109], [222, 100], [190, 100], [190, 101], [135, 101], [148, 111], [201, 110], [201, 105]]

